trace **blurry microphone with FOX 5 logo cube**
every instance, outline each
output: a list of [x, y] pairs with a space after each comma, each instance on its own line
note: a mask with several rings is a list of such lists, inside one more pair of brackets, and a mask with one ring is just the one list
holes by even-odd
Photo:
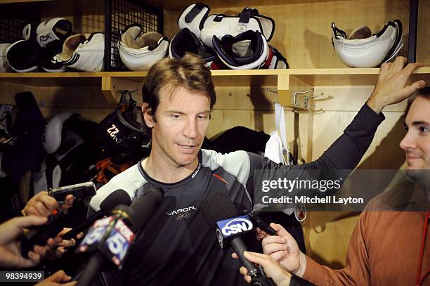
[[150, 188], [130, 207], [116, 207], [112, 211], [112, 216], [94, 223], [77, 249], [77, 252], [96, 251], [81, 277], [77, 279], [79, 286], [91, 285], [93, 278], [102, 270], [106, 259], [122, 268], [135, 234], [150, 220], [163, 197], [164, 192], [161, 188]]

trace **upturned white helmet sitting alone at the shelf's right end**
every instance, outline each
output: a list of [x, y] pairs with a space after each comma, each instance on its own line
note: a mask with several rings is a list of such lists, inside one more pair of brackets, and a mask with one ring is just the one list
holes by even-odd
[[402, 22], [387, 22], [377, 34], [365, 39], [348, 39], [346, 32], [332, 23], [332, 44], [341, 61], [349, 67], [377, 67], [391, 60], [400, 48]]

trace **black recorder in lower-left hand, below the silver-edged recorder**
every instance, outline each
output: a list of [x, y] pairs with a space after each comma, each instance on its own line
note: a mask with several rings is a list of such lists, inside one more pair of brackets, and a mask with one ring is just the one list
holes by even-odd
[[54, 209], [48, 216], [48, 221], [42, 226], [31, 226], [27, 233], [21, 235], [21, 254], [28, 258], [28, 252], [34, 245], [46, 245], [48, 238], [55, 238], [64, 228], [63, 211]]

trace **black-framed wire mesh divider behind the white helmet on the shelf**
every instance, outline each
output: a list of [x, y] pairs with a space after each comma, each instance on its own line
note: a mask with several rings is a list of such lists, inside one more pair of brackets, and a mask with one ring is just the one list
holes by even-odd
[[[119, 33], [128, 25], [138, 23], [143, 32], [163, 34], [163, 11], [141, 1], [106, 0], [105, 2], [105, 70], [127, 70], [119, 58]], [[110, 35], [110, 37], [109, 37]]]

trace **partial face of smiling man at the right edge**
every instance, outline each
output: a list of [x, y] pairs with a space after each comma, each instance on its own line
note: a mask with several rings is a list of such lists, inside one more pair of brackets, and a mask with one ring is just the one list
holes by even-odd
[[405, 119], [408, 131], [400, 142], [405, 150], [406, 169], [430, 169], [430, 99], [417, 96]]

